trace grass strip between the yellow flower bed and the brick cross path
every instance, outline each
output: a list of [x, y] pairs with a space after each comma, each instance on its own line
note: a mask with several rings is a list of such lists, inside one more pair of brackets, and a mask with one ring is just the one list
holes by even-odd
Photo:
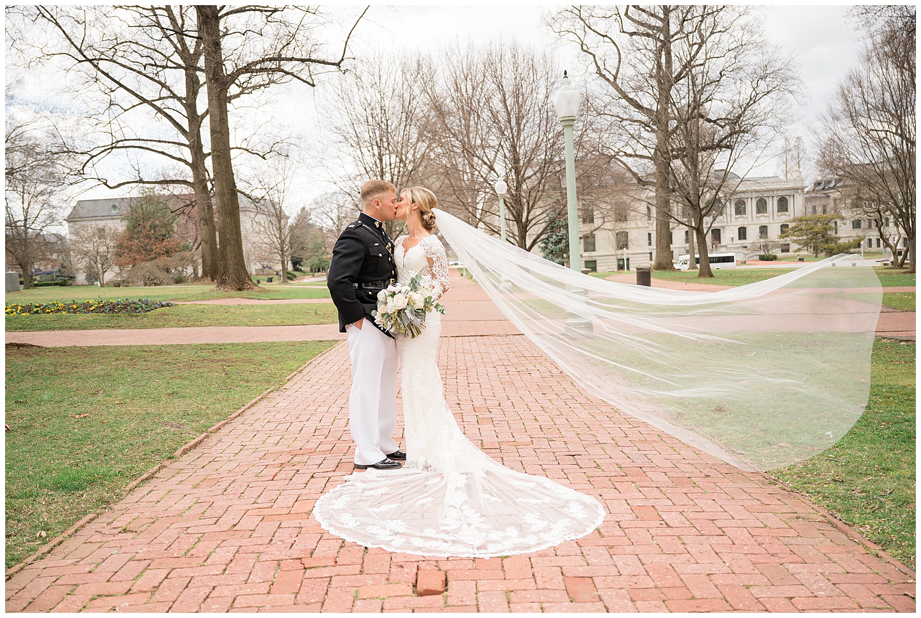
[[7, 332], [86, 331], [99, 328], [176, 328], [181, 326], [290, 326], [332, 324], [332, 303], [292, 305], [176, 305], [142, 315], [49, 313], [6, 316]]

